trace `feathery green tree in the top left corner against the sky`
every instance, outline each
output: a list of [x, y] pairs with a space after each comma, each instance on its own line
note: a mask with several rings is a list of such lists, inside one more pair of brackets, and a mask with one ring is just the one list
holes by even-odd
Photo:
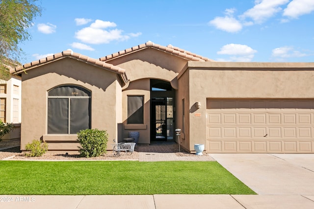
[[19, 44], [30, 40], [28, 28], [41, 15], [37, 0], [0, 0], [0, 78], [5, 79], [8, 66], [15, 67], [23, 54]]

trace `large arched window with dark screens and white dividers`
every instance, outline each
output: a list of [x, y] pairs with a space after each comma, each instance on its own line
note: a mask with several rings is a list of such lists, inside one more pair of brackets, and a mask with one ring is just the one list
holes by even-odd
[[59, 86], [48, 92], [48, 134], [77, 134], [89, 129], [91, 93], [78, 86]]

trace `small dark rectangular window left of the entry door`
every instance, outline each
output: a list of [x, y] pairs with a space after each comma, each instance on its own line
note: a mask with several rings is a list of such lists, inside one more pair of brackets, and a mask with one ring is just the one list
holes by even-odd
[[128, 96], [128, 124], [144, 123], [144, 96]]

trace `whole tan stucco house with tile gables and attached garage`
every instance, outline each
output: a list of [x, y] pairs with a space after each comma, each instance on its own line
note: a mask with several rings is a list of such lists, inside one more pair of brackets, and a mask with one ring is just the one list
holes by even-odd
[[[22, 76], [21, 148], [78, 150], [77, 132], [108, 144], [176, 140], [194, 152], [314, 153], [314, 63], [215, 62], [152, 42], [93, 59], [71, 50], [11, 69]], [[108, 146], [108, 149], [110, 147]]]

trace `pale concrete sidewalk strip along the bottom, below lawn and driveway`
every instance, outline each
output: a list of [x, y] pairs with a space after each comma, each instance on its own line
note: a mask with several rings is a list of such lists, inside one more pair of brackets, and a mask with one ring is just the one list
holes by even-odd
[[[308, 195], [0, 195], [1, 209], [313, 209]], [[10, 200], [11, 202], [8, 202]]]

